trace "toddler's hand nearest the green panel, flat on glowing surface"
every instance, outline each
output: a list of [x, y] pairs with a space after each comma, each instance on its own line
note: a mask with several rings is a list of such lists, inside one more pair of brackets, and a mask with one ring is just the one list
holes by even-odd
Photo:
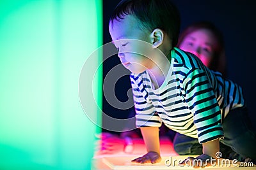
[[157, 152], [148, 152], [147, 154], [143, 155], [142, 157], [136, 158], [132, 160], [132, 162], [145, 164], [145, 163], [152, 163], [155, 164], [161, 161], [161, 156]]

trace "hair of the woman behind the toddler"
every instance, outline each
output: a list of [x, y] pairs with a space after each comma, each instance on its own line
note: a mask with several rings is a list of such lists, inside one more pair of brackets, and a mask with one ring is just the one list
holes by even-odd
[[216, 46], [214, 46], [214, 56], [212, 57], [212, 61], [209, 65], [209, 68], [214, 71], [219, 71], [222, 74], [225, 74], [225, 46], [224, 46], [224, 40], [223, 40], [223, 34], [221, 31], [214, 25], [212, 22], [208, 21], [200, 21], [195, 22], [191, 25], [188, 25], [180, 33], [179, 41], [177, 43], [177, 47], [180, 46], [184, 38], [188, 36], [188, 34], [191, 34], [192, 32], [197, 31], [198, 29], [207, 29], [214, 34], [214, 37], [216, 38]]

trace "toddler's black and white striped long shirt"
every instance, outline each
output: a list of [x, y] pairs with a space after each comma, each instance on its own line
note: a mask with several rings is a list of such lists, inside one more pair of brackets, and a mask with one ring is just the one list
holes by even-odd
[[137, 127], [160, 127], [199, 143], [223, 138], [221, 120], [244, 106], [241, 87], [209, 70], [192, 53], [173, 48], [171, 66], [159, 89], [152, 88], [147, 71], [131, 74]]

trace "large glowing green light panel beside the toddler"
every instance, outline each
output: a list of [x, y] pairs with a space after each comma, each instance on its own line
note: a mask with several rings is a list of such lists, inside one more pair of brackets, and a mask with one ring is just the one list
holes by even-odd
[[1, 170], [91, 169], [99, 128], [83, 112], [78, 83], [102, 45], [101, 23], [97, 0], [0, 1]]

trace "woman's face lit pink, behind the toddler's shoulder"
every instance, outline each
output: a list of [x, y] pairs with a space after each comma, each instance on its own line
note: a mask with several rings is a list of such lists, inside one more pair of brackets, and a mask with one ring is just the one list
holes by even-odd
[[214, 57], [214, 47], [217, 45], [214, 34], [208, 29], [198, 29], [184, 37], [179, 48], [195, 54], [205, 66], [209, 67]]

